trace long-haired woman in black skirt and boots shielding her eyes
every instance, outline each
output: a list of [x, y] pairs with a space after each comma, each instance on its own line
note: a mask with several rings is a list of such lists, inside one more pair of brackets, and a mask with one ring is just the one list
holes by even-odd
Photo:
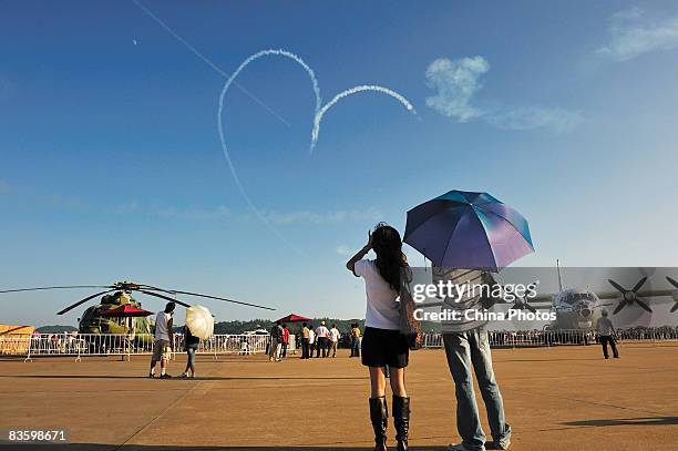
[[[364, 256], [374, 250], [374, 260]], [[370, 420], [374, 429], [374, 451], [387, 449], [388, 407], [386, 399], [386, 367], [390, 368], [393, 424], [398, 451], [408, 449], [410, 398], [405, 391], [404, 369], [408, 366], [409, 345], [400, 332], [398, 296], [403, 267], [408, 266], [402, 253], [402, 239], [393, 227], [380, 223], [369, 234], [368, 244], [346, 264], [366, 285], [367, 311], [362, 335], [362, 365], [369, 367], [371, 396]]]

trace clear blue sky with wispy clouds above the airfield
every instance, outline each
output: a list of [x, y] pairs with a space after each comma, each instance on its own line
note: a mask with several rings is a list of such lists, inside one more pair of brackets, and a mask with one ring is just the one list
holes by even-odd
[[[0, 281], [133, 279], [311, 316], [360, 317], [343, 269], [368, 228], [449, 189], [530, 221], [521, 265], [676, 266], [678, 8], [653, 2], [0, 2]], [[274, 113], [271, 113], [275, 112]], [[410, 259], [422, 257], [408, 249]], [[86, 293], [83, 293], [83, 296]], [[76, 293], [4, 296], [2, 321]], [[148, 308], [160, 304], [147, 300]], [[208, 305], [219, 319], [266, 316]], [[269, 317], [275, 317], [273, 314]]]

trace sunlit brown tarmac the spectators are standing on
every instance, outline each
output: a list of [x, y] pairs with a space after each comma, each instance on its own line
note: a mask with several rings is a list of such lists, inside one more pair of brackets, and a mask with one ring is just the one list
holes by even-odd
[[[678, 450], [678, 342], [495, 349], [513, 450]], [[185, 357], [171, 362], [178, 375]], [[195, 380], [148, 379], [148, 357], [0, 360], [0, 429], [68, 429], [69, 445], [0, 450], [368, 450], [359, 359], [198, 356]], [[412, 450], [458, 442], [444, 352], [411, 352]], [[477, 392], [477, 389], [476, 389]], [[485, 412], [479, 398], [485, 432]], [[389, 401], [390, 402], [390, 401]], [[389, 444], [394, 449], [392, 421]]]

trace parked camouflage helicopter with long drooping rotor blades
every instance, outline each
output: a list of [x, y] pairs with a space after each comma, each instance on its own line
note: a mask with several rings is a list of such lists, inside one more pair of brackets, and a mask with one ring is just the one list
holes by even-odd
[[[79, 301], [71, 304], [64, 309], [56, 312], [56, 315], [63, 315], [75, 307], [85, 304], [99, 296], [102, 296], [101, 303], [85, 309], [82, 317], [78, 319], [79, 331], [81, 334], [132, 334], [140, 335], [140, 337], [148, 337], [154, 331], [154, 324], [148, 317], [126, 317], [126, 316], [111, 316], [106, 315], [107, 311], [119, 308], [121, 306], [131, 305], [136, 308], [141, 308], [142, 304], [132, 298], [132, 293], [141, 293], [143, 295], [170, 300], [186, 308], [191, 307], [188, 304], [177, 299], [178, 295], [203, 297], [207, 299], [215, 299], [225, 303], [239, 304], [243, 306], [263, 308], [266, 310], [275, 310], [275, 308], [258, 306], [256, 304], [242, 303], [239, 300], [227, 299], [218, 296], [203, 295], [199, 293], [164, 289], [154, 287], [151, 285], [135, 284], [132, 281], [117, 281], [113, 285], [70, 285], [70, 286], [55, 286], [55, 287], [35, 287], [35, 288], [18, 288], [18, 289], [6, 289], [0, 290], [0, 294], [8, 293], [23, 293], [23, 291], [39, 291], [39, 290], [51, 290], [51, 289], [92, 289], [92, 288], [105, 288], [103, 291], [95, 293], [88, 296]], [[141, 338], [140, 338], [141, 339]]]

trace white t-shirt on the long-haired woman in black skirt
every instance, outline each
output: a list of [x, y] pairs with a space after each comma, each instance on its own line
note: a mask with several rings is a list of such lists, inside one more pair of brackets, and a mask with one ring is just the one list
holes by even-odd
[[364, 279], [367, 311], [364, 326], [377, 329], [400, 330], [398, 291], [381, 277], [372, 260], [356, 262], [355, 271]]

